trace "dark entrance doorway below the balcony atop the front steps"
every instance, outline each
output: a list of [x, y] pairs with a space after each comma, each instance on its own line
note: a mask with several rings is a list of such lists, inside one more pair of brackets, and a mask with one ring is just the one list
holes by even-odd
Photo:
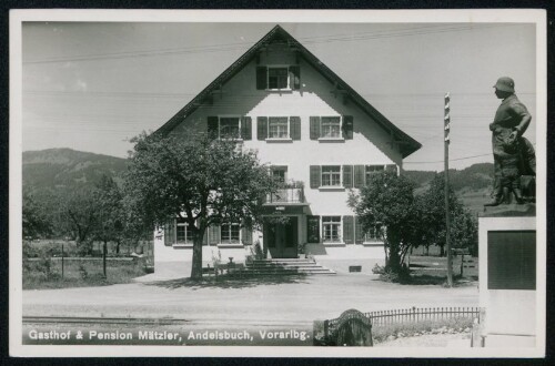
[[297, 236], [296, 217], [284, 224], [264, 223], [264, 241], [272, 258], [296, 258]]

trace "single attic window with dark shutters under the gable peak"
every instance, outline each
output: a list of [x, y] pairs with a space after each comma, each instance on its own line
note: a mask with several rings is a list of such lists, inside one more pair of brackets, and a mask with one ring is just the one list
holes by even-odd
[[256, 68], [258, 90], [299, 90], [301, 69], [299, 65], [265, 65]]

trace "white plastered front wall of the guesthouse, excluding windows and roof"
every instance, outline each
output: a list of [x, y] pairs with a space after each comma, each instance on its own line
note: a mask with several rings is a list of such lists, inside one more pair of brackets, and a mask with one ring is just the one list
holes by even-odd
[[[347, 61], [346, 61], [347, 62]], [[282, 88], [280, 90], [260, 89], [256, 85], [258, 68], [276, 67], [286, 69], [289, 65], [299, 68], [300, 85], [294, 88]], [[287, 85], [292, 87], [291, 74], [287, 77]], [[300, 135], [293, 138], [291, 118], [300, 121]], [[315, 116], [339, 118], [342, 133], [332, 139], [314, 138], [311, 132], [311, 119]], [[352, 120], [352, 132], [344, 138], [343, 129], [346, 119]], [[281, 214], [296, 217], [292, 231], [296, 236], [295, 253], [299, 247], [304, 246], [305, 253], [310, 253], [316, 260], [322, 258], [383, 258], [383, 245], [376, 241], [362, 240], [363, 234], [355, 233], [354, 213], [347, 206], [347, 196], [351, 190], [356, 190], [353, 184], [345, 182], [344, 165], [355, 165], [363, 169], [366, 165], [380, 165], [383, 169], [395, 169], [402, 172], [403, 152], [398, 143], [393, 142], [392, 131], [379, 123], [367, 111], [353, 99], [345, 96], [345, 91], [337, 89], [336, 82], [322, 74], [317, 67], [299, 57], [299, 52], [287, 44], [270, 43], [263, 51], [258, 52], [256, 58], [245, 62], [244, 65], [224, 83], [218, 85], [212, 93], [209, 103], [201, 103], [191, 113], [183, 116], [170, 133], [185, 136], [191, 131], [206, 131], [209, 119], [250, 118], [250, 139], [240, 142], [243, 149], [255, 150], [261, 163], [279, 166], [285, 170], [286, 181], [303, 182], [303, 202], [281, 202], [269, 204], [269, 210], [276, 210]], [[286, 118], [286, 136], [272, 139], [266, 131], [266, 138], [261, 139], [260, 118]], [[321, 121], [323, 121], [321, 119]], [[242, 126], [241, 126], [242, 128]], [[268, 126], [270, 129], [270, 126]], [[323, 129], [320, 124], [320, 129]], [[322, 133], [322, 130], [321, 130]], [[311, 166], [320, 166], [320, 185], [316, 187], [311, 182]], [[322, 166], [339, 166], [339, 184], [324, 186]], [[350, 172], [347, 170], [347, 172]], [[359, 170], [361, 172], [361, 170]], [[314, 174], [314, 173], [313, 173]], [[334, 175], [337, 177], [337, 174]], [[337, 183], [337, 182], [335, 182]], [[272, 209], [274, 207], [274, 209]], [[275, 213], [274, 213], [275, 214]], [[344, 218], [350, 216], [352, 218]], [[309, 217], [317, 217], [319, 240], [310, 240]], [[324, 220], [340, 217], [339, 225], [325, 224]], [[349, 225], [345, 223], [349, 223]], [[315, 221], [313, 221], [315, 223]], [[324, 225], [327, 225], [324, 227]], [[333, 226], [335, 225], [335, 226]], [[351, 226], [352, 225], [352, 226]], [[333, 227], [332, 227], [333, 226]], [[344, 233], [347, 230], [349, 233]], [[278, 234], [272, 234], [278, 235]], [[327, 236], [326, 236], [327, 235]], [[355, 240], [357, 235], [357, 240]], [[278, 235], [279, 236], [279, 235]], [[275, 237], [278, 237], [275, 236]], [[273, 236], [274, 237], [274, 236]], [[349, 240], [344, 240], [349, 237]], [[223, 244], [209, 243], [203, 247], [203, 262], [210, 263], [213, 255], [220, 252], [224, 262], [233, 256], [234, 262], [243, 262], [245, 255], [251, 253], [251, 245], [240, 243]], [[274, 238], [278, 241], [276, 238]], [[264, 230], [253, 231], [252, 243], [264, 243]], [[270, 251], [269, 256], [280, 255]], [[280, 252], [284, 253], [284, 252]], [[287, 256], [291, 253], [287, 252]], [[192, 245], [173, 243], [168, 245], [163, 240], [163, 233], [155, 235], [154, 261], [155, 263], [169, 261], [191, 261]], [[295, 255], [296, 256], [296, 255]]]

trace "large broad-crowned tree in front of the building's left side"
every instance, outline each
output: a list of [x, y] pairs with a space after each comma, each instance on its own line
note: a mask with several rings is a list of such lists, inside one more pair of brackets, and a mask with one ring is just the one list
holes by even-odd
[[261, 215], [260, 199], [275, 191], [275, 181], [255, 152], [234, 141], [143, 133], [133, 142], [125, 191], [151, 227], [185, 220], [193, 234], [191, 277], [200, 278], [206, 228], [225, 222], [252, 226]]

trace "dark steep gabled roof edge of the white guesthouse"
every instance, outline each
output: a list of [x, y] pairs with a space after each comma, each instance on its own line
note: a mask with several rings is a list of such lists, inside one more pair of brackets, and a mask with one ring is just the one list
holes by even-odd
[[212, 81], [206, 88], [204, 88], [195, 98], [193, 98], [185, 106], [183, 106], [178, 113], [175, 113], [175, 115], [173, 115], [154, 133], [167, 134], [172, 131], [180, 122], [183, 121], [184, 118], [193, 113], [203, 102], [205, 102], [211, 96], [211, 93], [214, 90], [232, 79], [249, 62], [256, 58], [259, 51], [261, 51], [266, 44], [276, 40], [285, 41], [290, 47], [293, 47], [309, 64], [320, 71], [320, 73], [331, 83], [335, 84], [335, 88], [337, 90], [346, 93], [346, 95], [349, 95], [355, 104], [357, 104], [363, 111], [365, 111], [382, 128], [389, 131], [392, 135], [392, 140], [395, 143], [400, 144], [403, 157], [408, 156], [422, 146], [420, 142], [401, 131], [396, 125], [387, 120], [382, 113], [380, 113], [374, 106], [372, 106], [364, 98], [362, 98], [346, 82], [337, 77], [332, 70], [330, 70], [330, 68], [322, 63], [322, 61], [320, 61], [314, 54], [312, 54], [306, 48], [304, 48], [297, 40], [295, 40], [280, 26], [275, 26], [270, 32], [268, 32], [266, 35], [264, 35], [243, 55], [241, 55], [235, 62], [233, 62], [228, 69], [225, 69], [224, 72], [222, 72], [214, 81]]

